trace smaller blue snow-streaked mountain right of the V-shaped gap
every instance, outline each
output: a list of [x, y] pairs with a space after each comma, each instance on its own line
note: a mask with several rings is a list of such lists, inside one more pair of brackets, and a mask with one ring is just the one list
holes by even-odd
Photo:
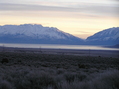
[[87, 44], [92, 45], [115, 45], [119, 44], [119, 27], [109, 28], [86, 39]]

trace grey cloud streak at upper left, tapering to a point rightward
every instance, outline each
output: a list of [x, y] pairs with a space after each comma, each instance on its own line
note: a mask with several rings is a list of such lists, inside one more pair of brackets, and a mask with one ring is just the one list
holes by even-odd
[[75, 11], [73, 8], [43, 6], [43, 5], [26, 5], [26, 4], [9, 4], [0, 3], [0, 10], [14, 10], [14, 11]]

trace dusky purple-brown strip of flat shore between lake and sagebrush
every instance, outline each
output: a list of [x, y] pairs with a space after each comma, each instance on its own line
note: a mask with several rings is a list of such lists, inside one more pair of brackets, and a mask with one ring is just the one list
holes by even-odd
[[119, 51], [118, 50], [0, 47], [0, 52], [39, 53], [39, 54], [57, 54], [57, 55], [75, 55], [75, 56], [91, 56], [91, 57], [94, 56], [94, 57], [119, 58]]

